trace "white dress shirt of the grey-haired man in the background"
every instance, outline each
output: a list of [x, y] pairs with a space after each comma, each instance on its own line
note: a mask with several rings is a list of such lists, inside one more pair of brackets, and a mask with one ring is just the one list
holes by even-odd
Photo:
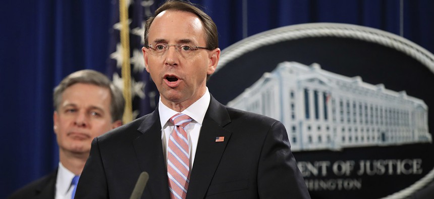
[[72, 196], [72, 190], [74, 186], [71, 185], [72, 178], [75, 174], [65, 168], [62, 163], [59, 162], [59, 169], [57, 171], [56, 178], [56, 199], [70, 199]]

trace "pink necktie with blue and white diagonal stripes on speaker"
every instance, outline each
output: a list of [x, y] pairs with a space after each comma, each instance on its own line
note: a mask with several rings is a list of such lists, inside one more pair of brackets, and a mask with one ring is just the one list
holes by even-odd
[[185, 114], [174, 115], [170, 122], [175, 125], [169, 137], [167, 175], [171, 198], [185, 198], [190, 182], [190, 150], [184, 127], [192, 121]]

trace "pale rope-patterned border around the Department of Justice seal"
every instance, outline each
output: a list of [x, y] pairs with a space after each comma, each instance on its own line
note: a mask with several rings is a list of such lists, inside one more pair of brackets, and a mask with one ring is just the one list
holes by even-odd
[[[249, 36], [228, 46], [222, 51], [219, 65], [215, 71], [218, 71], [229, 62], [261, 46], [309, 37], [352, 38], [384, 45], [410, 56], [434, 73], [434, 55], [420, 45], [390, 32], [343, 23], [306, 23], [290, 25]], [[430, 183], [433, 179], [434, 168], [409, 187], [383, 197], [382, 199], [408, 197], [413, 192]]]

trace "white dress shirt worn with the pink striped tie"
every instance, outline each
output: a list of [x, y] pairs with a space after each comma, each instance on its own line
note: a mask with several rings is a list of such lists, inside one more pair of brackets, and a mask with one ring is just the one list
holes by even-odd
[[[199, 100], [181, 112], [193, 119], [184, 128], [187, 132], [188, 145], [190, 146], [190, 170], [193, 168], [194, 155], [196, 154], [200, 128], [202, 127], [203, 118], [205, 117], [206, 110], [208, 110], [210, 100], [211, 96], [209, 95], [208, 88], [206, 88], [205, 94], [203, 94]], [[165, 160], [167, 162], [167, 145], [169, 144], [169, 136], [174, 129], [174, 125], [169, 121], [169, 119], [178, 114], [178, 112], [162, 104], [160, 97], [158, 102], [158, 113], [161, 123], [161, 142], [163, 146], [163, 154], [165, 155]]]

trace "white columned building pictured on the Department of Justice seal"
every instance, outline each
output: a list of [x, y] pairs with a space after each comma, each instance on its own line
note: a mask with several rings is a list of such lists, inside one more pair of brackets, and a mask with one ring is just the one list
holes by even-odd
[[228, 106], [281, 121], [292, 151], [432, 141], [422, 100], [316, 63], [280, 63]]

